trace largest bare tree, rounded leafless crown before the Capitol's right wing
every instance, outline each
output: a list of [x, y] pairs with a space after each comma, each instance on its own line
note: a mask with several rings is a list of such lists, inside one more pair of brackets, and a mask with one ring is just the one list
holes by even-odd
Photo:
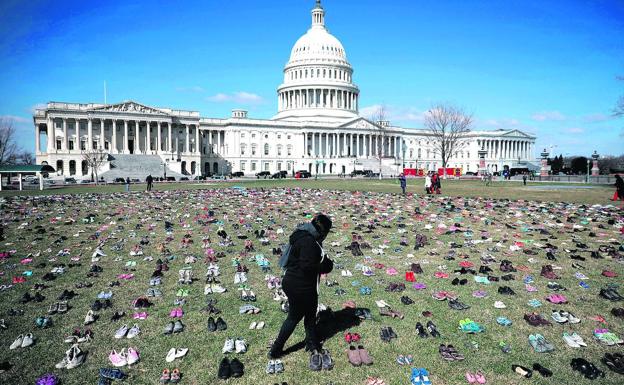
[[449, 103], [437, 103], [425, 114], [425, 127], [433, 135], [434, 152], [442, 158], [443, 176], [454, 153], [468, 143], [472, 115]]

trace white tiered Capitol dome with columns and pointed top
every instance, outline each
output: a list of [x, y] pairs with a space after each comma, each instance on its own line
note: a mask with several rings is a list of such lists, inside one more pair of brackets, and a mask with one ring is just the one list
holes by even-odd
[[290, 52], [284, 82], [278, 87], [276, 120], [342, 122], [358, 117], [359, 89], [342, 43], [325, 27], [320, 0], [312, 26]]

